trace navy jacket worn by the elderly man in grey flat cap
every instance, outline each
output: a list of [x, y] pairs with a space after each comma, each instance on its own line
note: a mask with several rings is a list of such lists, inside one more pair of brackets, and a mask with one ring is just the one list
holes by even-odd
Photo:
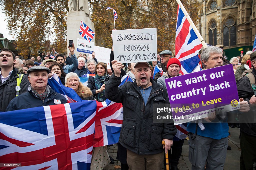
[[[33, 107], [40, 106], [49, 106], [55, 104], [63, 104], [67, 103], [65, 97], [61, 94], [56, 93], [50, 86], [47, 85], [47, 96], [44, 100], [41, 100], [37, 97], [36, 94], [31, 90], [31, 85], [28, 86], [28, 92], [21, 94], [14, 99], [12, 99], [9, 105], [6, 108], [6, 111], [20, 110], [20, 109], [28, 109]], [[60, 103], [58, 103], [58, 101]]]

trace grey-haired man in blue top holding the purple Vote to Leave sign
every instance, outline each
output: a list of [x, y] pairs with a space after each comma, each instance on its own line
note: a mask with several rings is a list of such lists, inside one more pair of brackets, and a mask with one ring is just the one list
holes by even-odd
[[[216, 46], [205, 48], [200, 56], [202, 66], [205, 69], [222, 66], [222, 53], [222, 49]], [[240, 98], [239, 111], [248, 112], [249, 110], [248, 102]], [[192, 170], [203, 170], [205, 162], [206, 169], [209, 170], [221, 170], [224, 167], [228, 148], [229, 127], [227, 122], [213, 123], [218, 120], [216, 117], [216, 112], [211, 112], [208, 117], [203, 119], [204, 130], [198, 128], [196, 123], [188, 123], [187, 125], [187, 131], [190, 132], [188, 157], [192, 164]]]

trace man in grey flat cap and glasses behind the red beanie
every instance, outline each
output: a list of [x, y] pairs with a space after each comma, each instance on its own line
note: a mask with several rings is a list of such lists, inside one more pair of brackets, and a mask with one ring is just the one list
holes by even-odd
[[156, 73], [154, 79], [157, 80], [161, 77], [165, 72], [168, 72], [166, 66], [170, 58], [172, 58], [172, 51], [170, 50], [163, 50], [160, 54], [161, 64], [157, 64], [159, 68], [162, 68], [163, 73]]

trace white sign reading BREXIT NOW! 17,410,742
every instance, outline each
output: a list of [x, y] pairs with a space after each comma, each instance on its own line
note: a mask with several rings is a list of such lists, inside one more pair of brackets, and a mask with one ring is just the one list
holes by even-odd
[[113, 30], [114, 59], [121, 63], [156, 61], [156, 28]]

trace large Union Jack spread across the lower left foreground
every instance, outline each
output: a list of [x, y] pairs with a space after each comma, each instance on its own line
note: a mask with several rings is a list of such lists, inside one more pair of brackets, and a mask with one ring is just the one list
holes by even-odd
[[1, 112], [0, 162], [21, 163], [15, 169], [22, 170], [89, 170], [96, 107], [83, 101]]

